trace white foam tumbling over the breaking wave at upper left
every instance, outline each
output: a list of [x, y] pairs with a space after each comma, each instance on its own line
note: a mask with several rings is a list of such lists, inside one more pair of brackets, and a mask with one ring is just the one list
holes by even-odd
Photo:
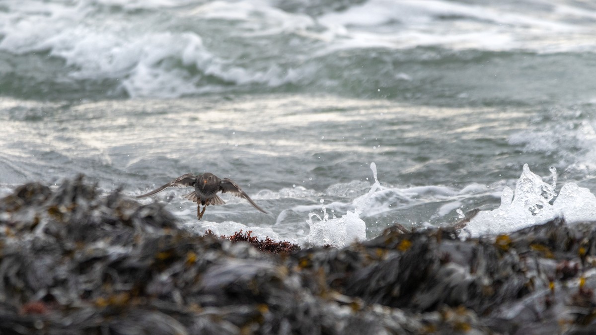
[[[176, 7], [187, 2], [154, 0], [144, 8]], [[0, 11], [0, 21], [4, 22], [0, 23], [0, 36], [3, 36], [0, 51], [15, 54], [49, 51], [72, 67], [69, 73], [72, 79], [117, 79], [120, 89], [131, 97], [180, 97], [221, 89], [201, 85], [199, 82], [204, 76], [238, 85], [263, 83], [269, 86], [293, 82], [300, 76], [295, 70], [282, 69], [275, 63], [266, 69], [240, 66], [226, 55], [207, 49], [197, 32], [172, 29], [188, 11], [172, 10], [164, 19], [154, 15], [131, 15], [128, 20], [122, 20], [118, 16], [104, 17], [98, 5], [140, 8], [141, 3], [116, 0], [77, 6], [27, 3], [29, 8], [38, 10], [31, 12], [27, 7], [13, 5], [7, 13]], [[222, 13], [230, 13], [224, 9], [234, 9], [234, 13], [239, 13], [235, 17], [252, 21], [263, 20], [263, 14], [270, 19], [256, 23], [271, 30], [260, 29], [262, 34], [299, 30], [312, 24], [312, 19], [304, 15], [288, 15], [252, 2], [216, 1], [200, 8], [202, 11], [197, 13], [206, 18], [222, 18]], [[81, 17], [85, 17], [85, 21]]]

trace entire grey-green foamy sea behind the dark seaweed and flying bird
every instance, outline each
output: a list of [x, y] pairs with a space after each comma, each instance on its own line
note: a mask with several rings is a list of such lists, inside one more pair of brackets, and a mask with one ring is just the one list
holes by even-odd
[[212, 172], [270, 215], [142, 201], [305, 246], [473, 209], [470, 235], [593, 221], [594, 36], [596, 4], [563, 0], [4, 0], [0, 196]]

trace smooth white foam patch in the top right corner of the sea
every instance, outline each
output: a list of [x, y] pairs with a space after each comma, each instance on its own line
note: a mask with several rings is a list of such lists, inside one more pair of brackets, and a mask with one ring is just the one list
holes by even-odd
[[[344, 40], [339, 45], [347, 48], [358, 44], [389, 48], [437, 45], [458, 49], [560, 52], [563, 49], [585, 51], [590, 47], [588, 30], [582, 24], [570, 23], [573, 20], [569, 18], [585, 22], [595, 14], [569, 5], [527, 11], [523, 6], [440, 0], [371, 0], [346, 11], [324, 15], [319, 21], [330, 30], [341, 32]], [[458, 19], [445, 19], [449, 17]], [[566, 39], [564, 44], [560, 41], [563, 38]], [[576, 42], [570, 43], [572, 40]]]

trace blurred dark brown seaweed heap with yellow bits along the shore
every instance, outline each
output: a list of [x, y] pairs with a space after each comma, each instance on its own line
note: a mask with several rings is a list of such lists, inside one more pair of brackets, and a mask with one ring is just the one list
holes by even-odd
[[596, 332], [593, 224], [459, 232], [272, 255], [82, 177], [26, 184], [0, 200], [0, 333]]

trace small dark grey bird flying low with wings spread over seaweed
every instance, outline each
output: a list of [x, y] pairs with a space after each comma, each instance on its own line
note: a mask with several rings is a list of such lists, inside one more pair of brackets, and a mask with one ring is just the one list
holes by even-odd
[[[260, 210], [265, 214], [268, 214], [261, 207], [257, 206], [257, 204], [254, 203], [254, 201], [248, 196], [248, 194], [246, 194], [240, 188], [240, 186], [238, 186], [238, 184], [232, 181], [232, 179], [219, 179], [218, 176], [209, 172], [203, 173], [202, 175], [194, 175], [193, 173], [181, 175], [173, 181], [170, 181], [169, 183], [163, 185], [162, 187], [156, 188], [156, 190], [153, 190], [149, 193], [141, 194], [141, 196], [137, 196], [137, 198], [153, 196], [157, 193], [160, 193], [168, 187], [187, 186], [193, 186], [194, 191], [185, 194], [183, 197], [197, 203], [197, 218], [199, 220], [203, 218], [203, 214], [205, 213], [207, 205], [225, 204], [225, 201], [218, 196], [219, 192], [230, 193], [234, 196], [244, 198], [247, 201], [249, 201], [249, 203], [252, 204], [254, 208]], [[201, 210], [201, 205], [203, 206], [203, 210]]]

